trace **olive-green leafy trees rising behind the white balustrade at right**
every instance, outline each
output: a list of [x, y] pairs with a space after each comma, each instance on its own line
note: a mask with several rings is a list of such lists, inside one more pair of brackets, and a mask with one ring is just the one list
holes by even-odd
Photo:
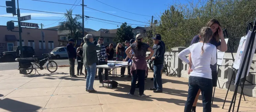
[[[188, 47], [200, 28], [212, 19], [217, 19], [222, 29], [227, 29], [232, 51], [237, 50], [239, 40], [245, 35], [249, 22], [256, 17], [255, 0], [208, 0], [175, 3], [159, 16], [154, 33], [159, 33], [169, 48]], [[227, 38], [227, 37], [225, 37]], [[228, 46], [228, 52], [230, 48]]]

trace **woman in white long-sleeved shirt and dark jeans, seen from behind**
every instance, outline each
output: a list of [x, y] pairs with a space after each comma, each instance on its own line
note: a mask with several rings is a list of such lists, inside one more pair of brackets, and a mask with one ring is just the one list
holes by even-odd
[[[212, 70], [210, 64], [214, 65], [216, 60], [216, 47], [209, 43], [212, 38], [210, 27], [203, 27], [199, 33], [200, 40], [185, 50], [178, 57], [191, 67], [189, 76], [188, 99], [184, 112], [191, 112], [193, 102], [198, 90], [201, 89], [203, 100], [203, 112], [211, 112], [212, 100]], [[185, 57], [191, 54], [192, 63]]]

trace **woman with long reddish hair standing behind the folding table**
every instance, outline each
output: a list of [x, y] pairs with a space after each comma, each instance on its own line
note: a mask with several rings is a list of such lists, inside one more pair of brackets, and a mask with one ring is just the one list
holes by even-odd
[[[116, 61], [123, 61], [125, 53], [125, 48], [121, 43], [118, 43], [116, 46]], [[121, 67], [121, 77], [125, 76], [125, 67]]]

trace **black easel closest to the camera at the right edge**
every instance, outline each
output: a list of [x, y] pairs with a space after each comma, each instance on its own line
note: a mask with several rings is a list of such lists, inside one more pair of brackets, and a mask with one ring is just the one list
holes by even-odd
[[[248, 29], [249, 28], [247, 27], [247, 31], [249, 31]], [[245, 85], [244, 83], [245, 83], [245, 81], [247, 81], [246, 80], [246, 75], [247, 75], [247, 71], [248, 71], [248, 66], [250, 64], [249, 59], [251, 58], [251, 55], [252, 55], [253, 44], [254, 44], [254, 39], [255, 39], [254, 38], [255, 37], [255, 30], [256, 30], [256, 19], [255, 19], [255, 23], [254, 23], [254, 26], [253, 26], [252, 34], [250, 35], [250, 37], [247, 37], [247, 39], [246, 39], [246, 40], [248, 40], [248, 38], [249, 38], [249, 43], [248, 43], [248, 46], [247, 46], [246, 52], [245, 52], [245, 56], [248, 55], [248, 58], [244, 58], [243, 61], [242, 61], [243, 62], [242, 63], [242, 67], [246, 67], [246, 68], [245, 68], [245, 74], [244, 74], [244, 78], [243, 78], [243, 85], [242, 85], [241, 93], [243, 92], [243, 89], [244, 89], [244, 85]], [[246, 59], [248, 59], [248, 61], [247, 61], [247, 64], [245, 66]], [[232, 100], [231, 100], [231, 104], [230, 104], [230, 108], [228, 109], [228, 112], [231, 111], [233, 102], [234, 102], [234, 105], [233, 105], [233, 111], [232, 112], [234, 112], [236, 95], [237, 95], [237, 91], [238, 91], [239, 82], [241, 81], [242, 73], [243, 73], [243, 68], [241, 69], [241, 71], [238, 74], [238, 79], [237, 79], [237, 82], [235, 84], [235, 91], [234, 91], [234, 94], [233, 94], [233, 97], [232, 97]], [[255, 85], [255, 84], [251, 83], [251, 84], [246, 84], [246, 85]], [[240, 102], [241, 102], [241, 97], [242, 97], [242, 94], [240, 95], [240, 98], [239, 98], [239, 102], [238, 102], [238, 106], [237, 106], [237, 112], [239, 110], [239, 106], [240, 106]]]

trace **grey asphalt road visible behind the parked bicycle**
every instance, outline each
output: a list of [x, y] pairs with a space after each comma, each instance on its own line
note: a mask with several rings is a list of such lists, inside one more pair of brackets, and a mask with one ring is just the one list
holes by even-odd
[[[58, 59], [54, 60], [58, 66], [60, 65], [69, 65], [68, 59]], [[77, 65], [77, 62], [75, 62]], [[0, 62], [0, 70], [18, 70], [19, 62]], [[46, 66], [46, 64], [45, 64]]]

